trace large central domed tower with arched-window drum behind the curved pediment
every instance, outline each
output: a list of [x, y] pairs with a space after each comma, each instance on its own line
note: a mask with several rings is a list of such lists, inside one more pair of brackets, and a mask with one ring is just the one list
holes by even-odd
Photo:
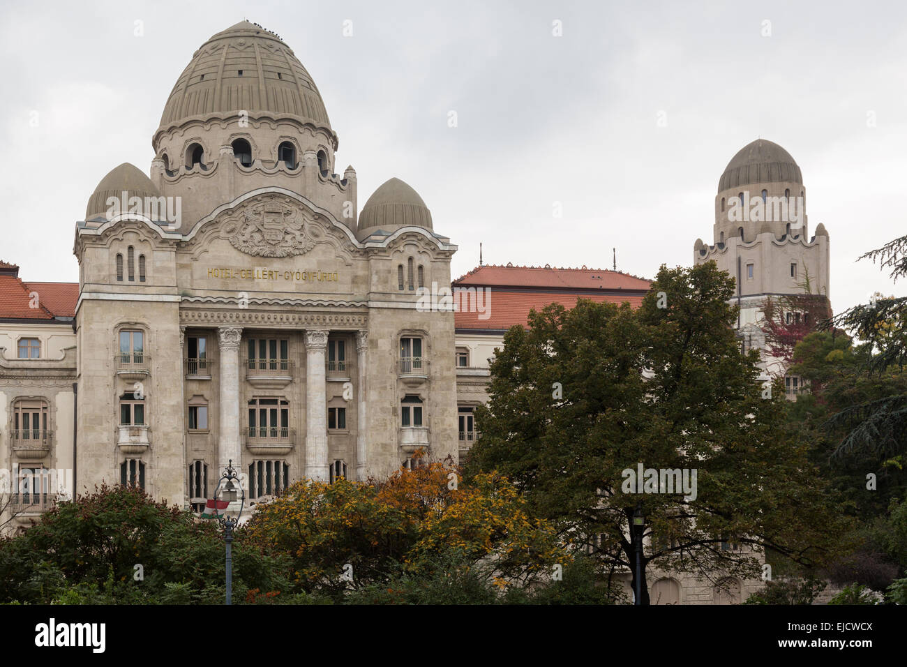
[[288, 45], [258, 25], [233, 25], [192, 55], [151, 145], [151, 181], [182, 198], [180, 231], [267, 187], [302, 194], [356, 231], [356, 172], [334, 172], [338, 141], [321, 93]]

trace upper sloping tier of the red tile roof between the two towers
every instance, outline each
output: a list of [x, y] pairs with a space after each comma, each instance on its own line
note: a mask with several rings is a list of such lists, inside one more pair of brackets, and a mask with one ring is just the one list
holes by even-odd
[[607, 269], [552, 269], [486, 264], [453, 281], [454, 285], [541, 287], [561, 289], [642, 289], [649, 280]]

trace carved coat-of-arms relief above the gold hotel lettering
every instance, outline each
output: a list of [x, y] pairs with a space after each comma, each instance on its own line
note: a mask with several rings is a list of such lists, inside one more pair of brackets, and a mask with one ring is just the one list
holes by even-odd
[[297, 203], [288, 197], [257, 199], [224, 225], [229, 242], [247, 255], [293, 257], [315, 247], [308, 221]]

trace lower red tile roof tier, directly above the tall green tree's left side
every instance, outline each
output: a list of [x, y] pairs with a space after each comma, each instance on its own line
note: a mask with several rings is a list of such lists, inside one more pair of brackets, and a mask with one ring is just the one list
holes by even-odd
[[[560, 303], [568, 309], [576, 306], [576, 299], [591, 299], [593, 301], [608, 303], [623, 303], [629, 301], [630, 306], [639, 308], [642, 303], [641, 294], [626, 296], [612, 294], [559, 294], [545, 291], [512, 292], [492, 289], [491, 297], [486, 293], [482, 304], [485, 312], [454, 312], [453, 326], [456, 329], [510, 329], [514, 324], [523, 327], [529, 321], [529, 311], [541, 310], [550, 303]], [[461, 299], [466, 307], [471, 299]], [[474, 309], [473, 309], [474, 310]], [[489, 316], [488, 319], [480, 319]]]

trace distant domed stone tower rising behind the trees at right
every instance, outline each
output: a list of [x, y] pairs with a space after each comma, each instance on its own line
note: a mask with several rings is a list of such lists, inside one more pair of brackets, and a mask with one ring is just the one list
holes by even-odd
[[[828, 298], [828, 232], [820, 223], [809, 235], [805, 197], [794, 158], [765, 139], [740, 149], [718, 180], [712, 244], [697, 239], [693, 259], [714, 260], [736, 279], [746, 347], [765, 347], [760, 322], [767, 298], [807, 291]], [[763, 357], [769, 372], [783, 370]]]

